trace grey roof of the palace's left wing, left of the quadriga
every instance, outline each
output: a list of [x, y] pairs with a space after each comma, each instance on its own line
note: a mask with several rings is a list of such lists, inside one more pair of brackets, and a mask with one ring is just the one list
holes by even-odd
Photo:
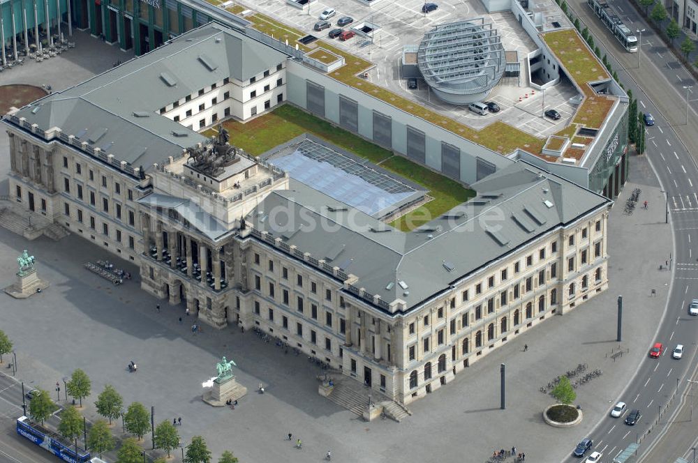
[[[287, 55], [210, 23], [172, 39], [171, 43], [132, 59], [65, 91], [52, 93], [15, 114], [42, 130], [61, 128], [66, 135], [105, 146], [107, 154], [147, 170], [154, 162], [205, 137], [161, 116], [161, 107], [198, 92], [225, 77], [247, 80], [274, 69]], [[168, 79], [176, 82], [170, 86]], [[33, 112], [36, 107], [39, 109]], [[142, 113], [136, 116], [135, 113]], [[186, 134], [175, 137], [174, 131]]]

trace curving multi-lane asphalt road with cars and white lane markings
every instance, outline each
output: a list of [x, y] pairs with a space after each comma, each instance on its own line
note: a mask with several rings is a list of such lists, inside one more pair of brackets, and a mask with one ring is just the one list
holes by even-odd
[[[646, 128], [647, 155], [663, 190], [667, 192], [675, 258], [671, 262], [674, 279], [669, 301], [665, 308], [658, 307], [659, 310], [665, 310], [662, 324], [658, 326], [655, 337], [646, 340], [648, 351], [655, 342], [664, 344], [662, 356], [657, 359], [647, 356], [618, 397], [618, 400], [628, 404], [628, 411], [623, 417], [602, 418], [589, 437], [594, 441], [593, 450], [603, 453], [603, 462], [613, 461], [625, 448], [636, 442], [640, 443], [637, 455], [641, 460], [645, 458], [647, 461], [674, 462], [677, 457], [687, 455], [687, 449], [695, 439], [694, 430], [690, 439], [690, 433], [685, 433], [685, 438], [667, 446], [665, 441], [672, 439], [674, 433], [665, 434], [663, 431], [667, 429], [667, 425], [676, 421], [677, 405], [687, 403], [685, 394], [689, 383], [686, 380], [695, 373], [693, 365], [697, 356], [695, 340], [698, 335], [698, 317], [688, 314], [688, 304], [692, 298], [698, 298], [698, 278], [694, 278], [695, 271], [698, 270], [698, 252], [692, 252], [693, 244], [698, 241], [698, 196], [694, 186], [698, 185], [698, 167], [690, 154], [698, 152], [698, 137], [695, 136], [698, 133], [698, 118], [695, 103], [690, 101], [688, 125], [685, 123], [686, 91], [683, 86], [694, 86], [689, 90], [689, 100], [692, 94], [698, 98], [698, 86], [695, 86], [692, 77], [681, 68], [660, 39], [640, 21], [639, 15], [627, 1], [613, 0], [609, 3], [620, 13], [630, 29], [646, 29], [642, 34], [639, 55], [625, 52], [621, 48], [586, 1], [575, 1], [572, 7], [595, 36], [602, 53], [617, 58], [617, 61], [611, 60], [615, 61], [614, 70], [617, 70], [625, 88], [631, 89], [638, 99], [638, 110], [651, 112], [655, 116], [655, 126]], [[632, 177], [632, 170], [630, 176]], [[621, 201], [625, 202], [629, 195], [629, 191], [624, 192]], [[642, 206], [642, 202], [640, 197], [638, 207]], [[671, 237], [658, 236], [658, 239], [669, 238]], [[629, 335], [632, 336], [632, 333], [625, 333], [625, 336]], [[671, 358], [671, 351], [676, 344], [685, 346], [681, 360]], [[609, 404], [609, 411], [613, 405]], [[625, 425], [625, 415], [632, 409], [639, 409], [642, 418], [637, 425]], [[660, 447], [661, 460], [656, 460], [659, 457], [656, 454], [653, 456], [655, 460], [648, 457], [649, 450]]]

